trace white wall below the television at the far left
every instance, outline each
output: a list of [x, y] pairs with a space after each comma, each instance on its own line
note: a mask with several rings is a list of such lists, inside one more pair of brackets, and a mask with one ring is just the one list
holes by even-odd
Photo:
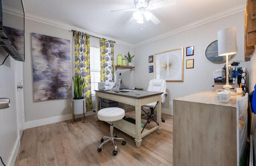
[[[0, 49], [0, 63], [7, 54]], [[0, 98], [10, 98], [11, 106], [0, 109], [0, 156], [7, 165], [12, 159], [14, 149], [18, 143], [18, 130], [16, 119], [16, 94], [15, 90], [15, 64], [9, 56], [0, 66]], [[15, 158], [14, 158], [15, 160]], [[2, 166], [2, 163], [0, 164]]]

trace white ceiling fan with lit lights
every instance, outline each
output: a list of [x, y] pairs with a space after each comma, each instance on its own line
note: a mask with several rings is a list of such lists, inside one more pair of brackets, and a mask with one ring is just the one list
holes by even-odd
[[134, 4], [136, 6], [134, 9], [112, 10], [111, 12], [134, 11], [132, 20], [137, 20], [137, 23], [144, 23], [145, 20], [150, 20], [157, 25], [160, 23], [160, 20], [148, 10], [172, 6], [175, 4], [175, 0], [135, 0]]

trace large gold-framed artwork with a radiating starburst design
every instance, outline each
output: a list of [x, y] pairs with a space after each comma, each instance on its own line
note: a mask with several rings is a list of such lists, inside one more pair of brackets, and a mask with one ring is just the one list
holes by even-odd
[[177, 48], [154, 55], [154, 76], [166, 81], [183, 81], [184, 48]]

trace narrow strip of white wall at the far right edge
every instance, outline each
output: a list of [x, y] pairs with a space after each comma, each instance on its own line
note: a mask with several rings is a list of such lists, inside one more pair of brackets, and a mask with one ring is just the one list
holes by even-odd
[[[256, 47], [256, 45], [255, 45]], [[256, 51], [252, 53], [250, 60], [250, 84], [249, 84], [249, 93], [254, 90], [254, 86], [256, 84]]]

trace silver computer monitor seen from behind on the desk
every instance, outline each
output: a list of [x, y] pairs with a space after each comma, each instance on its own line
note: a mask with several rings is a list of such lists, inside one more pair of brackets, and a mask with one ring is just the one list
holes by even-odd
[[131, 87], [131, 70], [116, 70], [115, 71], [115, 86], [117, 85], [118, 79], [121, 79], [120, 89], [130, 89]]

